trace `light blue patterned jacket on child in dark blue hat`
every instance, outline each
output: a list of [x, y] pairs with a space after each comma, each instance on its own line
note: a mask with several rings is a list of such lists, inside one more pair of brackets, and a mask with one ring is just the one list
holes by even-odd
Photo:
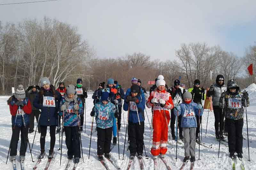
[[116, 112], [116, 107], [113, 103], [108, 102], [106, 105], [102, 102], [96, 103], [94, 111], [98, 128], [107, 129], [113, 126], [113, 118]]

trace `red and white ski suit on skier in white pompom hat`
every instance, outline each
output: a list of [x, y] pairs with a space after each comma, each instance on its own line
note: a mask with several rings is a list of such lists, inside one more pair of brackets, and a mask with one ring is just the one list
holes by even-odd
[[[151, 103], [151, 99], [156, 98], [164, 99], [164, 107], [160, 106], [160, 103]], [[154, 104], [154, 105], [153, 105]], [[151, 148], [151, 154], [154, 156], [160, 153], [165, 154], [167, 152], [167, 140], [168, 140], [168, 124], [170, 122], [169, 110], [173, 108], [172, 96], [169, 92], [156, 89], [152, 91], [147, 102], [147, 107], [153, 106], [153, 142]], [[165, 118], [166, 117], [166, 118]], [[167, 119], [167, 123], [166, 123]]]

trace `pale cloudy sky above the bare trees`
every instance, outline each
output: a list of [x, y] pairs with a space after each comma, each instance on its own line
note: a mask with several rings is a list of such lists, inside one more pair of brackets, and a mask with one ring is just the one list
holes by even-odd
[[[15, 3], [32, 0], [0, 0]], [[36, 0], [34, 0], [36, 1]], [[256, 1], [59, 0], [0, 5], [0, 20], [18, 23], [44, 16], [77, 26], [99, 57], [141, 52], [152, 59], [176, 59], [181, 43], [220, 45], [244, 56], [256, 41]]]

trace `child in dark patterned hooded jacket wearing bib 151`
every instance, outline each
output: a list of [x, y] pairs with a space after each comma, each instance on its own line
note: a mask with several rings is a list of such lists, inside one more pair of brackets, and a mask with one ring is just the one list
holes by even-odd
[[228, 128], [228, 151], [231, 159], [235, 152], [243, 158], [244, 107], [249, 106], [248, 93], [241, 91], [235, 79], [228, 81], [227, 91], [220, 96], [219, 106], [225, 111], [225, 126]]

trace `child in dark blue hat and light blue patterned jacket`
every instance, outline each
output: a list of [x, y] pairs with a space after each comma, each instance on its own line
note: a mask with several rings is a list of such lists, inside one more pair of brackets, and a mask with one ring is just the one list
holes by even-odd
[[100, 102], [96, 103], [91, 116], [95, 116], [97, 124], [97, 154], [98, 159], [103, 160], [103, 153], [110, 158], [110, 144], [112, 137], [113, 118], [118, 117], [116, 106], [109, 102], [108, 92], [102, 92]]

